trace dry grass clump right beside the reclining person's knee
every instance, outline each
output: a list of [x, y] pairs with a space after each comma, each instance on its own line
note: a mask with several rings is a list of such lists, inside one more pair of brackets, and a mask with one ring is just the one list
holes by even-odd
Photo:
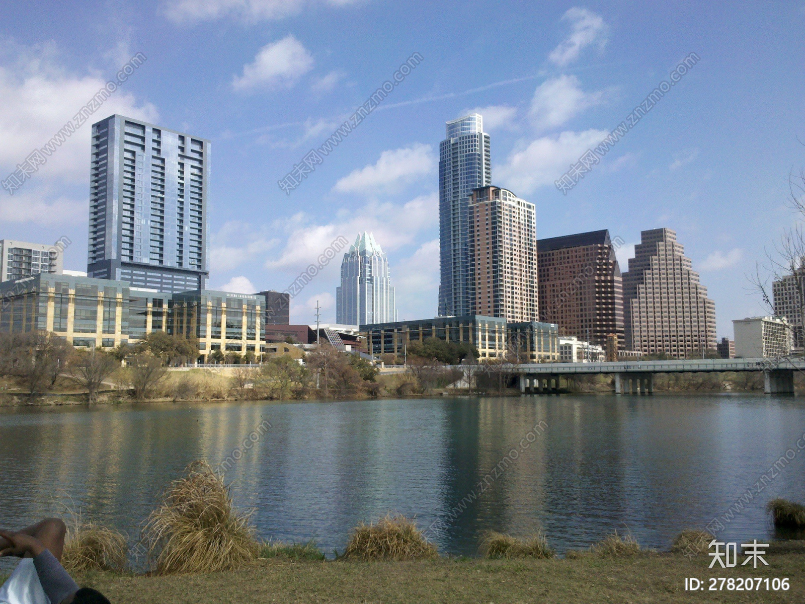
[[114, 528], [82, 523], [78, 516], [67, 523], [61, 564], [72, 573], [114, 570], [126, 565], [126, 536]]

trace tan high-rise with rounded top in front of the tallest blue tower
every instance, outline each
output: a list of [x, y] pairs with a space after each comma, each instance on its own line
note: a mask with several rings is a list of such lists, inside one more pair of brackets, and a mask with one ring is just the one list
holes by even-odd
[[469, 199], [470, 312], [539, 321], [535, 205], [499, 187]]

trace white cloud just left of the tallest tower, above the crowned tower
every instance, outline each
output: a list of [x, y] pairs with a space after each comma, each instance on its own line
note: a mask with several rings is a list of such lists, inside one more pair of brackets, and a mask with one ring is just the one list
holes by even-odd
[[431, 146], [416, 143], [411, 147], [383, 151], [377, 163], [354, 170], [332, 188], [333, 191], [368, 195], [398, 192], [404, 185], [433, 172], [436, 158]]

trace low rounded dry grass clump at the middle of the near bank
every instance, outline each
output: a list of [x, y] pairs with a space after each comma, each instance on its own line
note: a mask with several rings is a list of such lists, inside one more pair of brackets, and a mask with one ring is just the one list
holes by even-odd
[[386, 515], [377, 524], [360, 523], [349, 536], [345, 558], [359, 560], [418, 560], [438, 556], [416, 523], [405, 516]]

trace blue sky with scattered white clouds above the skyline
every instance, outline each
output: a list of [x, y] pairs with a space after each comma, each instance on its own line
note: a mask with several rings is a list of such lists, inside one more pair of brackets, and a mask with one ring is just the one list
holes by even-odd
[[[213, 141], [212, 288], [284, 289], [340, 235], [374, 232], [400, 318], [433, 316], [444, 122], [485, 117], [493, 184], [537, 206], [539, 238], [678, 233], [719, 336], [763, 311], [746, 274], [783, 226], [805, 166], [797, 3], [161, 0], [2, 2], [0, 172], [48, 139], [130, 56], [147, 60], [93, 118], [120, 113]], [[423, 61], [290, 196], [277, 181], [413, 52]], [[567, 196], [581, 152], [690, 52], [700, 61]], [[93, 121], [97, 121], [93, 119]], [[89, 125], [10, 197], [0, 238], [72, 245], [86, 268]], [[620, 252], [622, 270], [630, 246]], [[335, 318], [340, 258], [292, 302]]]

